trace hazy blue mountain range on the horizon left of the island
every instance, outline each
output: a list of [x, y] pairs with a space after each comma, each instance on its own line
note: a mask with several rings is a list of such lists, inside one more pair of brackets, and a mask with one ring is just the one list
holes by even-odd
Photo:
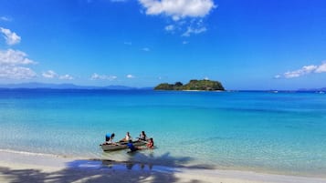
[[111, 90], [131, 90], [131, 89], [152, 89], [152, 87], [131, 87], [131, 86], [77, 86], [74, 84], [46, 84], [46, 83], [21, 83], [5, 84], [0, 88], [49, 88], [49, 89], [111, 89]]

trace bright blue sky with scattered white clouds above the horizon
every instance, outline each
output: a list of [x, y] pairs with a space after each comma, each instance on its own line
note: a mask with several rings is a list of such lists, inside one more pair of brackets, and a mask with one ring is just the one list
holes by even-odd
[[326, 87], [326, 1], [0, 1], [0, 84], [191, 79]]

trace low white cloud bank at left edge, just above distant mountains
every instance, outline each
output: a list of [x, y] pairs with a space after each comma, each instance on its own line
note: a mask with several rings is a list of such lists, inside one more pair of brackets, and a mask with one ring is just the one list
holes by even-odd
[[36, 64], [26, 58], [26, 53], [18, 50], [0, 50], [0, 78], [29, 79], [37, 76], [27, 65]]

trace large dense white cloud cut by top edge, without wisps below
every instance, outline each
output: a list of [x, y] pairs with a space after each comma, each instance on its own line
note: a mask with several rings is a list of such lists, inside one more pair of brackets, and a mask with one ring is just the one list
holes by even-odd
[[147, 15], [168, 15], [174, 21], [185, 17], [204, 17], [216, 7], [213, 0], [139, 0]]

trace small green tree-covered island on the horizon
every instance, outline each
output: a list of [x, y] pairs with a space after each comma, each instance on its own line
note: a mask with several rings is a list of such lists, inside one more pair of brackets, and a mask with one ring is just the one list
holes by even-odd
[[155, 86], [154, 90], [224, 91], [225, 89], [219, 81], [193, 79], [185, 85], [181, 82], [175, 84], [162, 83]]

